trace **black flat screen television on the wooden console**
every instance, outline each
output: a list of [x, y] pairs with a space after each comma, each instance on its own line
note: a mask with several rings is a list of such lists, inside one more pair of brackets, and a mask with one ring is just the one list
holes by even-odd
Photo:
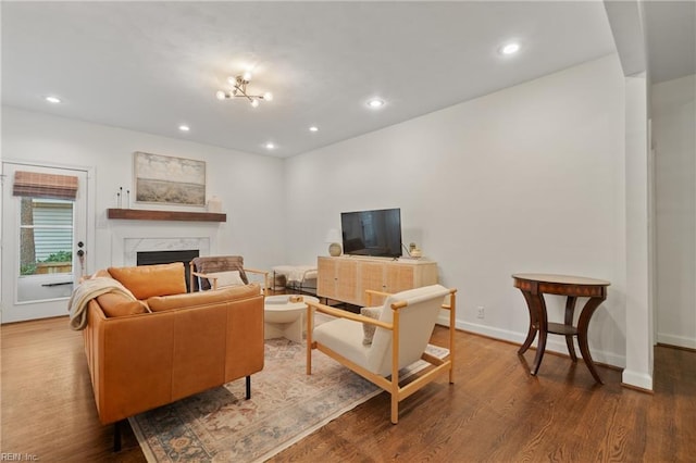
[[401, 256], [401, 210], [343, 212], [344, 254]]

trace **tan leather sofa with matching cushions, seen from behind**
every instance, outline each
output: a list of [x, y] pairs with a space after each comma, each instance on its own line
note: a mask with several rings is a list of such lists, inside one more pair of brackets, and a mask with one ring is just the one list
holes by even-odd
[[139, 300], [108, 292], [87, 306], [85, 350], [101, 423], [243, 377], [250, 395], [250, 375], [263, 368], [258, 285], [186, 293], [181, 263], [97, 276], [117, 279]]

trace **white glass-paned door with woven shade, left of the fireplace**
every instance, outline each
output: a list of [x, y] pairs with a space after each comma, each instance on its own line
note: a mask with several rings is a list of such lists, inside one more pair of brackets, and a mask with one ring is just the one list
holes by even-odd
[[[38, 183], [58, 175], [55, 182], [69, 178], [71, 185], [59, 186], [55, 196], [36, 188], [15, 196], [15, 180], [23, 182], [16, 172]], [[66, 315], [74, 284], [84, 274], [87, 172], [5, 162], [2, 174], [1, 322]], [[65, 198], [65, 190], [74, 198]]]

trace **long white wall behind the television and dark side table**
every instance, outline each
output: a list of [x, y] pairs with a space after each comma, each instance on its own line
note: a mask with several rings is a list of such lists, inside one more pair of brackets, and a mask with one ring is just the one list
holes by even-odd
[[[623, 365], [623, 152], [612, 55], [287, 160], [288, 256], [326, 255], [343, 211], [398, 207], [403, 241], [460, 289], [458, 326], [521, 342], [529, 317], [512, 273], [604, 278], [612, 286], [589, 345], [595, 360]], [[561, 320], [561, 298], [547, 302]]]

